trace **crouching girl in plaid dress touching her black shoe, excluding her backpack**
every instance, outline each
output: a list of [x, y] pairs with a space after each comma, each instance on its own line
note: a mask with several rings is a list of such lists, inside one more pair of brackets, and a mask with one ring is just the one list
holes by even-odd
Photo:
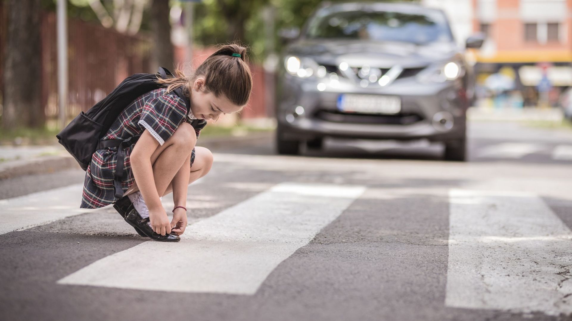
[[[180, 240], [187, 224], [188, 184], [205, 176], [213, 163], [208, 149], [195, 146], [200, 130], [206, 120], [239, 112], [250, 98], [252, 74], [246, 53], [247, 49], [236, 43], [219, 45], [192, 77], [176, 70], [174, 78], [157, 79], [163, 88], [133, 101], [101, 138], [126, 139], [141, 134], [136, 144], [125, 149], [123, 198], [114, 197], [117, 148], [102, 148], [93, 153], [86, 171], [80, 208], [116, 203], [114, 207], [140, 235], [160, 241]], [[189, 97], [188, 114], [185, 101], [173, 92], [180, 87]], [[175, 207], [169, 223], [161, 196], [170, 192]]]

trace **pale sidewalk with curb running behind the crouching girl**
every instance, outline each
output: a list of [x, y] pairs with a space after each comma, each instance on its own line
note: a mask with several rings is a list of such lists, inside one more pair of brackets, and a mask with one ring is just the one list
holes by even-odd
[[[234, 136], [205, 136], [198, 145], [206, 148], [248, 145], [271, 140], [273, 131], [238, 133]], [[65, 169], [81, 169], [76, 160], [60, 144], [0, 145], [0, 181], [23, 175], [53, 173]]]

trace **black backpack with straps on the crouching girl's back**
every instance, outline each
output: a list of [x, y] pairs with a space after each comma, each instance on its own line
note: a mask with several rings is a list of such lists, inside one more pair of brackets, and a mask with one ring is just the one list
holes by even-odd
[[[118, 199], [123, 196], [121, 181], [124, 175], [125, 148], [135, 144], [140, 135], [125, 140], [100, 141], [100, 139], [105, 136], [121, 112], [134, 100], [145, 93], [162, 87], [156, 82], [157, 76], [170, 78], [173, 77], [173, 74], [168, 69], [160, 67], [157, 74], [134, 74], [125, 78], [108, 96], [93, 105], [87, 112], [81, 112], [55, 136], [58, 138], [59, 144], [62, 144], [76, 158], [77, 163], [84, 171], [88, 169], [89, 163], [92, 161], [92, 154], [96, 150], [105, 147], [117, 147], [117, 167], [113, 185], [115, 196]], [[185, 101], [188, 114], [190, 111], [189, 98], [185, 97], [181, 88], [175, 89], [174, 92]], [[193, 122], [198, 121], [201, 120], [193, 120]], [[196, 126], [196, 124], [192, 125]]]

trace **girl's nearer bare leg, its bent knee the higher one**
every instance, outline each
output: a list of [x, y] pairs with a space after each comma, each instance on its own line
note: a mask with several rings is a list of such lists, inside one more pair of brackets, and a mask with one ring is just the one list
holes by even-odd
[[[183, 122], [162, 146], [158, 146], [151, 156], [155, 187], [159, 195], [165, 195], [165, 190], [173, 177], [181, 168], [183, 162], [192, 152], [197, 137], [193, 126]], [[124, 193], [124, 196], [137, 192], [136, 182]]]

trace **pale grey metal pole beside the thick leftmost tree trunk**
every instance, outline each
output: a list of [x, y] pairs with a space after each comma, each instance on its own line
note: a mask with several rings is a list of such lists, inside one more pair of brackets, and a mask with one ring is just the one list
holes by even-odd
[[67, 105], [67, 0], [58, 0], [58, 110], [59, 126], [66, 125]]

